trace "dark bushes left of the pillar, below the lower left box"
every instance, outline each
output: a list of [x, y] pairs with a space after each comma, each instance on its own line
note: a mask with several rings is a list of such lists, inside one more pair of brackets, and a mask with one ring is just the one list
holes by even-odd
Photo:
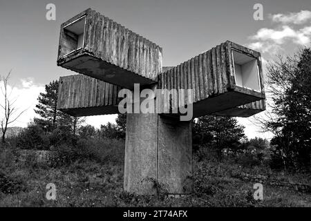
[[17, 136], [17, 147], [57, 151], [58, 157], [53, 166], [70, 164], [75, 160], [123, 163], [124, 140], [97, 137], [91, 126], [84, 126], [82, 132], [82, 135], [76, 136], [60, 126], [48, 132], [32, 123]]

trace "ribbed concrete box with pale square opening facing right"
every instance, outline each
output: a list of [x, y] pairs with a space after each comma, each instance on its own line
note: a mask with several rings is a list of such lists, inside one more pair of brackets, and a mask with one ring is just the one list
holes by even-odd
[[[193, 103], [194, 117], [199, 117], [265, 99], [260, 53], [231, 41], [166, 70], [158, 81], [160, 89], [178, 90], [171, 97], [163, 93], [157, 106], [162, 113]], [[252, 108], [226, 113], [246, 117], [265, 109]]]

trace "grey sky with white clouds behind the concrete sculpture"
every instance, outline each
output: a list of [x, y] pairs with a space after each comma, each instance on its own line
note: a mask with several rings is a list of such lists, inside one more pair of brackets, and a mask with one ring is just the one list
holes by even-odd
[[[48, 3], [56, 6], [55, 21], [46, 19]], [[256, 3], [263, 6], [263, 20], [254, 19]], [[75, 74], [56, 64], [59, 28], [86, 8], [161, 46], [163, 66], [176, 66], [226, 40], [261, 52], [263, 65], [276, 54], [292, 55], [299, 46], [310, 46], [310, 0], [0, 0], [0, 75], [12, 70], [12, 95], [26, 110], [11, 126], [27, 126], [36, 116], [33, 108], [45, 84]], [[247, 137], [272, 137], [261, 133], [252, 118], [238, 121]], [[86, 122], [99, 127], [115, 122], [115, 115]]]

